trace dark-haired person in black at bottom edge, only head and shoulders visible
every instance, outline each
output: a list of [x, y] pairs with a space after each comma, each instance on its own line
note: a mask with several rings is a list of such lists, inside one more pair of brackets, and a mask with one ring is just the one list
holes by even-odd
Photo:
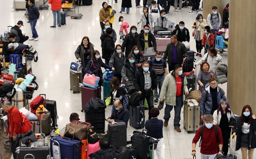
[[120, 159], [121, 153], [113, 145], [110, 145], [110, 141], [107, 138], [99, 140], [98, 151], [89, 154], [90, 159]]

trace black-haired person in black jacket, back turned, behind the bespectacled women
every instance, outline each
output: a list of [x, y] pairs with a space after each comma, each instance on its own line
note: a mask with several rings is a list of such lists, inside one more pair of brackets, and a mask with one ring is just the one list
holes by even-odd
[[112, 38], [113, 29], [109, 27], [106, 33], [101, 35], [102, 58], [105, 59], [105, 64], [108, 65], [112, 54], [115, 51], [115, 44]]

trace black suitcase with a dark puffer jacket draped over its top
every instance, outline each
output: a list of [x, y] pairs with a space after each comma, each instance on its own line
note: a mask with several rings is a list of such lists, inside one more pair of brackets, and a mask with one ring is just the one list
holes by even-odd
[[85, 121], [91, 123], [96, 133], [105, 133], [105, 108], [85, 112]]

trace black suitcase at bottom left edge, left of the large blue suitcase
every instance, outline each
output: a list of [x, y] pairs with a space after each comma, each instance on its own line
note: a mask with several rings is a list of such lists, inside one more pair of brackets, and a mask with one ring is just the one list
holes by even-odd
[[[51, 159], [50, 147], [17, 147], [17, 159], [29, 159], [26, 156], [33, 156], [34, 159]], [[28, 155], [29, 154], [29, 155]]]

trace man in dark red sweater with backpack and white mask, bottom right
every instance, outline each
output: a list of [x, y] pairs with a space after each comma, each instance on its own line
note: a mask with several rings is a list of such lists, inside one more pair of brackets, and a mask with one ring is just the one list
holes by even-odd
[[[195, 147], [197, 142], [200, 141], [200, 153], [201, 159], [215, 159], [217, 154], [222, 154], [223, 140], [221, 135], [221, 129], [217, 125], [213, 125], [213, 116], [206, 115], [204, 117], [204, 126], [201, 126], [195, 133], [195, 137], [192, 141], [192, 156], [196, 156]], [[203, 129], [203, 130], [201, 130]], [[217, 133], [215, 133], [217, 132]], [[218, 151], [219, 148], [219, 151]]]

